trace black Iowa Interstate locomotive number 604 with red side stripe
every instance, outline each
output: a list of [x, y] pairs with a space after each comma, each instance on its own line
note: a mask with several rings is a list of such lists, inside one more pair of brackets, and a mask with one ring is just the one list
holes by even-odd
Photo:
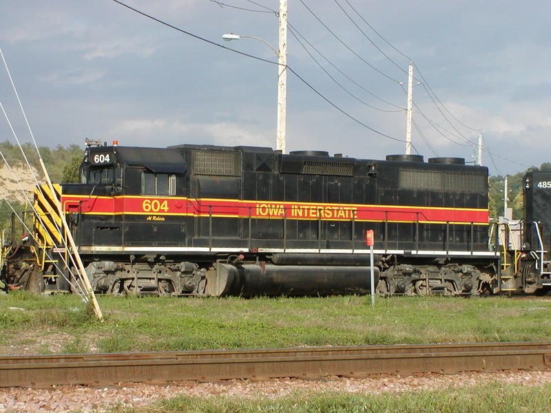
[[490, 245], [488, 170], [461, 158], [103, 145], [87, 147], [80, 175], [54, 193], [37, 187], [32, 237], [3, 248], [8, 288], [72, 288], [54, 197], [95, 293], [368, 293], [367, 230], [382, 295], [549, 285], [537, 224], [528, 231], [530, 244], [540, 240], [534, 251], [500, 247], [508, 233]]

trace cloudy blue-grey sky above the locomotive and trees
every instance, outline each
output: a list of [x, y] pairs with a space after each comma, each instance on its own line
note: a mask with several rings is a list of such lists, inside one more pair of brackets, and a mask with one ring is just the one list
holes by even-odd
[[[278, 0], [123, 3], [156, 20], [113, 0], [0, 0], [39, 146], [275, 149], [277, 57], [222, 34], [277, 49]], [[411, 60], [412, 153], [475, 162], [481, 133], [491, 175], [551, 162], [550, 18], [543, 0], [288, 0], [287, 151], [405, 153]], [[32, 142], [0, 64], [0, 141]]]

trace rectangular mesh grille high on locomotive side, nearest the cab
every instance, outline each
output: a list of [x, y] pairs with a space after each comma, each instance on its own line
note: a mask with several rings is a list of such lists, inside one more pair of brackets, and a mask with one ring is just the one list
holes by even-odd
[[241, 176], [241, 153], [195, 151], [194, 172], [207, 176]]

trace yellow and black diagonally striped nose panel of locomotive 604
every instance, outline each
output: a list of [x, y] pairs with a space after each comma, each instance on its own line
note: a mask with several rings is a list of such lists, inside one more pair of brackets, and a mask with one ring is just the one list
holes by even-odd
[[53, 184], [54, 193], [48, 185], [39, 185], [34, 189], [34, 236], [43, 246], [61, 244], [61, 217], [56, 200], [61, 200], [61, 185]]

